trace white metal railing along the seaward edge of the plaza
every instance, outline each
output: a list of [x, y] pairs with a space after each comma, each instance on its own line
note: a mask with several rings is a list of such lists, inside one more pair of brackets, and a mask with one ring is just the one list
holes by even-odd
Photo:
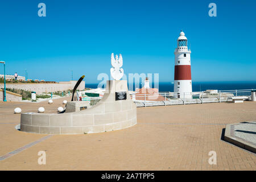
[[[216, 92], [189, 92], [189, 93], [154, 93], [154, 94], [130, 94], [131, 100], [137, 107], [147, 106], [166, 106], [166, 105], [184, 105], [184, 104], [204, 104], [210, 102], [227, 102], [232, 101], [235, 96], [247, 96], [246, 100], [250, 100], [251, 91], [246, 90], [216, 90]], [[79, 100], [79, 94], [77, 92]], [[102, 97], [89, 97], [90, 106], [96, 105]]]

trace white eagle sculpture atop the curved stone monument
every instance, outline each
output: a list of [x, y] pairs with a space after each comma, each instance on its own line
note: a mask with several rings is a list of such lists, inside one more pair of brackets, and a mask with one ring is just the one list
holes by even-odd
[[110, 73], [111, 76], [114, 78], [114, 80], [120, 80], [123, 77], [123, 58], [122, 55], [119, 54], [119, 59], [118, 56], [116, 55], [114, 58], [114, 53], [111, 54], [111, 65], [113, 68], [110, 68]]

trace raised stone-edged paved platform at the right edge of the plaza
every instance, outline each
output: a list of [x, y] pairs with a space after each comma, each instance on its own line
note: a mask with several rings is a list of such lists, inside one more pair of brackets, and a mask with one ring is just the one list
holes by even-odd
[[256, 121], [226, 125], [225, 140], [256, 153]]

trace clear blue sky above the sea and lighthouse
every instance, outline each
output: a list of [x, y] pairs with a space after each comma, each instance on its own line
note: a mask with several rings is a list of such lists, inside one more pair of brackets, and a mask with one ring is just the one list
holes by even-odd
[[[46, 3], [46, 17], [38, 3]], [[208, 5], [217, 5], [217, 17]], [[181, 29], [191, 44], [193, 81], [256, 80], [256, 1], [1, 1], [0, 60], [6, 72], [48, 81], [97, 83], [110, 54], [122, 53], [125, 73], [174, 80]], [[3, 66], [0, 65], [0, 73]]]

